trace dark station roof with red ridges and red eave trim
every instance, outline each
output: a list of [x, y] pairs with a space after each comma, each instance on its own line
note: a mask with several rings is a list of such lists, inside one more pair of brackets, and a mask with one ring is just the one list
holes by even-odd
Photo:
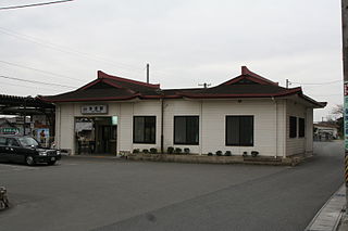
[[160, 89], [160, 85], [151, 85], [132, 79], [108, 75], [98, 70], [98, 78], [82, 88], [63, 94], [42, 97], [50, 102], [76, 101], [111, 101], [139, 99], [221, 99], [221, 98], [268, 98], [298, 94], [302, 99], [323, 107], [325, 104], [316, 102], [302, 93], [301, 88], [286, 89], [279, 87], [246, 66], [241, 67], [241, 75], [212, 88], [194, 89]]

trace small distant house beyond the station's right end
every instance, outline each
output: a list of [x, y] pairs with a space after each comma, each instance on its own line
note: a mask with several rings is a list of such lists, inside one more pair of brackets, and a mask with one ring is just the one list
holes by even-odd
[[338, 138], [338, 126], [327, 121], [314, 123], [314, 140], [326, 141]]

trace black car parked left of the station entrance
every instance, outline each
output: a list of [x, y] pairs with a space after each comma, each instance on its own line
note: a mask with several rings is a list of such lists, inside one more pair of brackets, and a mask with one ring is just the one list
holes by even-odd
[[0, 162], [54, 165], [60, 158], [59, 150], [41, 147], [33, 137], [0, 134]]

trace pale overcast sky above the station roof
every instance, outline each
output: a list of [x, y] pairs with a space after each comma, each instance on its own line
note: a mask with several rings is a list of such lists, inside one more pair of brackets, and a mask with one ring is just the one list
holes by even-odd
[[98, 69], [146, 81], [147, 63], [161, 88], [215, 86], [243, 65], [283, 87], [289, 79], [328, 102], [314, 111], [321, 120], [343, 103], [340, 1], [75, 0], [0, 11], [0, 76], [61, 85], [0, 77], [1, 94], [71, 91]]

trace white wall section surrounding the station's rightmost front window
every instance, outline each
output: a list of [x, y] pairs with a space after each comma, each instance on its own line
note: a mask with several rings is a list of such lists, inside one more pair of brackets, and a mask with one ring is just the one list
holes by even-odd
[[[271, 100], [249, 101], [204, 101], [202, 107], [202, 153], [217, 150], [231, 151], [241, 155], [244, 152], [258, 151], [260, 155], [276, 155], [276, 111]], [[253, 146], [225, 145], [225, 117], [226, 115], [253, 116]]]

